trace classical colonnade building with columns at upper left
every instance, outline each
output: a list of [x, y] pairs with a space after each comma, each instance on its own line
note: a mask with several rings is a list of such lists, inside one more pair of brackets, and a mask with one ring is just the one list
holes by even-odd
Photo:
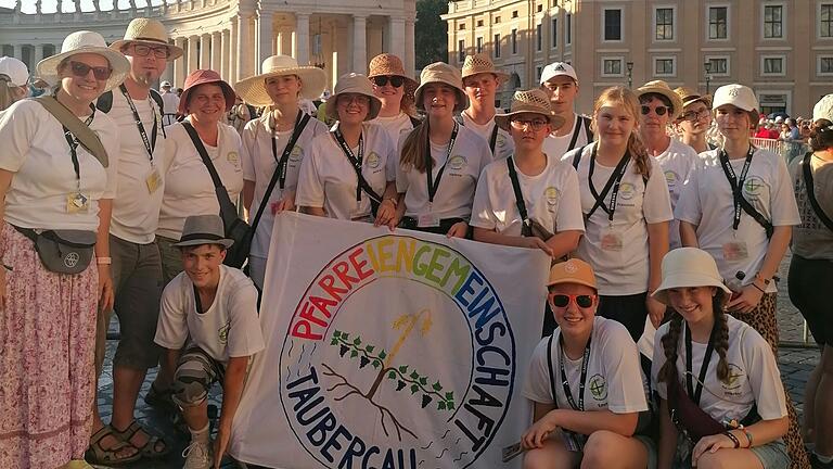
[[272, 54], [293, 55], [300, 64], [328, 72], [329, 88], [349, 72], [367, 73], [368, 61], [382, 52], [399, 55], [414, 68], [415, 0], [164, 0], [161, 4], [102, 11], [99, 0], [82, 11], [80, 0], [60, 0], [57, 12], [0, 8], [0, 54], [34, 66], [61, 50], [69, 33], [91, 29], [112, 42], [124, 37], [133, 17], [156, 17], [171, 42], [185, 53], [163, 79], [181, 87], [197, 68], [213, 68], [234, 83], [260, 72]]

